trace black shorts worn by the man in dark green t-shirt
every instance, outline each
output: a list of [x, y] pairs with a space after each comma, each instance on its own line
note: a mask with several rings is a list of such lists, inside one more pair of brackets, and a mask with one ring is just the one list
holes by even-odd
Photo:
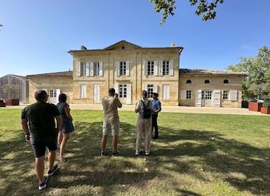
[[30, 144], [32, 145], [35, 158], [44, 156], [46, 147], [49, 151], [56, 151], [58, 149], [58, 140], [56, 137], [43, 137], [42, 139], [30, 138]]

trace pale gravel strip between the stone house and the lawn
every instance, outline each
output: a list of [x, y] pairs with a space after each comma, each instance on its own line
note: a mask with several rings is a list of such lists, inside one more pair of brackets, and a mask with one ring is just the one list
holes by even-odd
[[[22, 109], [27, 104], [20, 106], [6, 106], [0, 109]], [[102, 110], [101, 104], [70, 104], [70, 109], [83, 110]], [[119, 111], [134, 111], [135, 105], [123, 105]], [[214, 108], [214, 107], [195, 107], [195, 106], [162, 106], [161, 112], [180, 112], [180, 113], [224, 113], [224, 114], [241, 114], [241, 115], [266, 115], [256, 111], [248, 111], [241, 108]]]

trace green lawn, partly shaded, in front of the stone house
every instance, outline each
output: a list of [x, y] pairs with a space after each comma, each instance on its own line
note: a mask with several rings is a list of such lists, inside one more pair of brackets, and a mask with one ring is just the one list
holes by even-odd
[[[160, 139], [135, 156], [134, 111], [120, 111], [116, 158], [100, 157], [102, 111], [72, 110], [67, 162], [38, 190], [20, 109], [0, 109], [0, 195], [269, 195], [269, 116], [160, 113]], [[109, 137], [107, 151], [112, 150]], [[143, 148], [142, 148], [143, 149]], [[46, 162], [47, 164], [47, 162]]]

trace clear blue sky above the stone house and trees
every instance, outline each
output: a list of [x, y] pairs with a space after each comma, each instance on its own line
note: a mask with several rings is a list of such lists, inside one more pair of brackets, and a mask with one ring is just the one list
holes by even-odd
[[[210, 0], [211, 1], [211, 0]], [[180, 68], [226, 70], [270, 47], [270, 1], [224, 0], [202, 21], [189, 0], [160, 25], [149, 0], [8, 0], [0, 3], [0, 77], [73, 69], [69, 50], [102, 49], [121, 40], [142, 47], [184, 47]]]

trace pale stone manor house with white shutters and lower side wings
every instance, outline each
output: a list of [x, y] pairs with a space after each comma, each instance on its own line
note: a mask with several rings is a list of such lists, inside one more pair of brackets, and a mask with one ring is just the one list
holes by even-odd
[[163, 106], [241, 107], [245, 73], [180, 69], [184, 48], [175, 46], [144, 48], [119, 41], [103, 49], [69, 50], [73, 71], [26, 76], [29, 103], [34, 92], [46, 90], [49, 102], [67, 94], [70, 104], [101, 104], [109, 87], [114, 87], [123, 104], [135, 104], [142, 90], [149, 97], [158, 92]]

